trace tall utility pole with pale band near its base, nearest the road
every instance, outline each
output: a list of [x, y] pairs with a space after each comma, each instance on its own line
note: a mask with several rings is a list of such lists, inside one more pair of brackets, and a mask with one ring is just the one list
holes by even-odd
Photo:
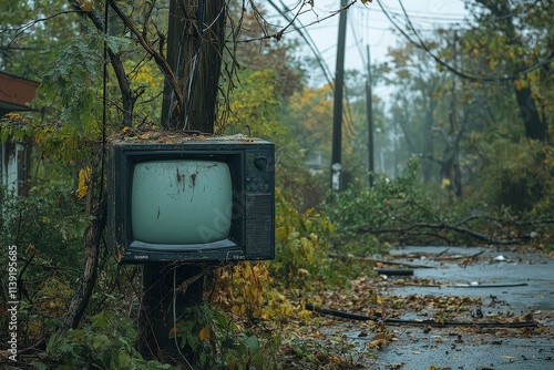
[[347, 0], [340, 1], [342, 9], [339, 16], [339, 39], [337, 45], [337, 63], [335, 66], [335, 105], [332, 113], [332, 153], [331, 153], [331, 189], [341, 189], [342, 169], [340, 153], [342, 143], [342, 89], [345, 85], [345, 47], [346, 47], [346, 25], [347, 25]]

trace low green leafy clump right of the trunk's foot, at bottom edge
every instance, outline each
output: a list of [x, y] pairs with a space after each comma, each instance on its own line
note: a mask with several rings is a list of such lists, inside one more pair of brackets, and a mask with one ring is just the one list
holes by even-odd
[[194, 369], [276, 369], [279, 337], [240, 330], [227, 316], [207, 305], [188, 308], [175, 336], [194, 354]]

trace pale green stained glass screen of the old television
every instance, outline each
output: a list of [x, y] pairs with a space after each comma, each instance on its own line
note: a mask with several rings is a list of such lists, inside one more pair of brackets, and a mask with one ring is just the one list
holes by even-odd
[[233, 183], [225, 163], [138, 163], [131, 194], [131, 219], [137, 241], [189, 245], [229, 236]]

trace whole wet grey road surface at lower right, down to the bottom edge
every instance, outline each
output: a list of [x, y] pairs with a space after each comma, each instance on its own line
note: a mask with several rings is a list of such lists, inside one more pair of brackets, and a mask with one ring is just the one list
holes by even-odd
[[[376, 351], [368, 369], [554, 369], [552, 257], [497, 248], [403, 247], [387, 259], [394, 267], [406, 263], [413, 275], [383, 278], [383, 296], [419, 297], [423, 302], [466, 297], [478, 304], [455, 322], [509, 327], [387, 325], [392, 339]], [[399, 319], [437, 320], [437, 311], [422, 311], [406, 308]], [[510, 327], [519, 322], [536, 326]], [[366, 348], [377, 338], [356, 322], [338, 322], [332, 330]]]

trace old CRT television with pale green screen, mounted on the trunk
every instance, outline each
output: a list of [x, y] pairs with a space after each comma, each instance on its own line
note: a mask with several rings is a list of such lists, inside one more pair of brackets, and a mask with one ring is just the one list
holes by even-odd
[[107, 232], [123, 264], [275, 256], [274, 144], [245, 136], [112, 141]]

